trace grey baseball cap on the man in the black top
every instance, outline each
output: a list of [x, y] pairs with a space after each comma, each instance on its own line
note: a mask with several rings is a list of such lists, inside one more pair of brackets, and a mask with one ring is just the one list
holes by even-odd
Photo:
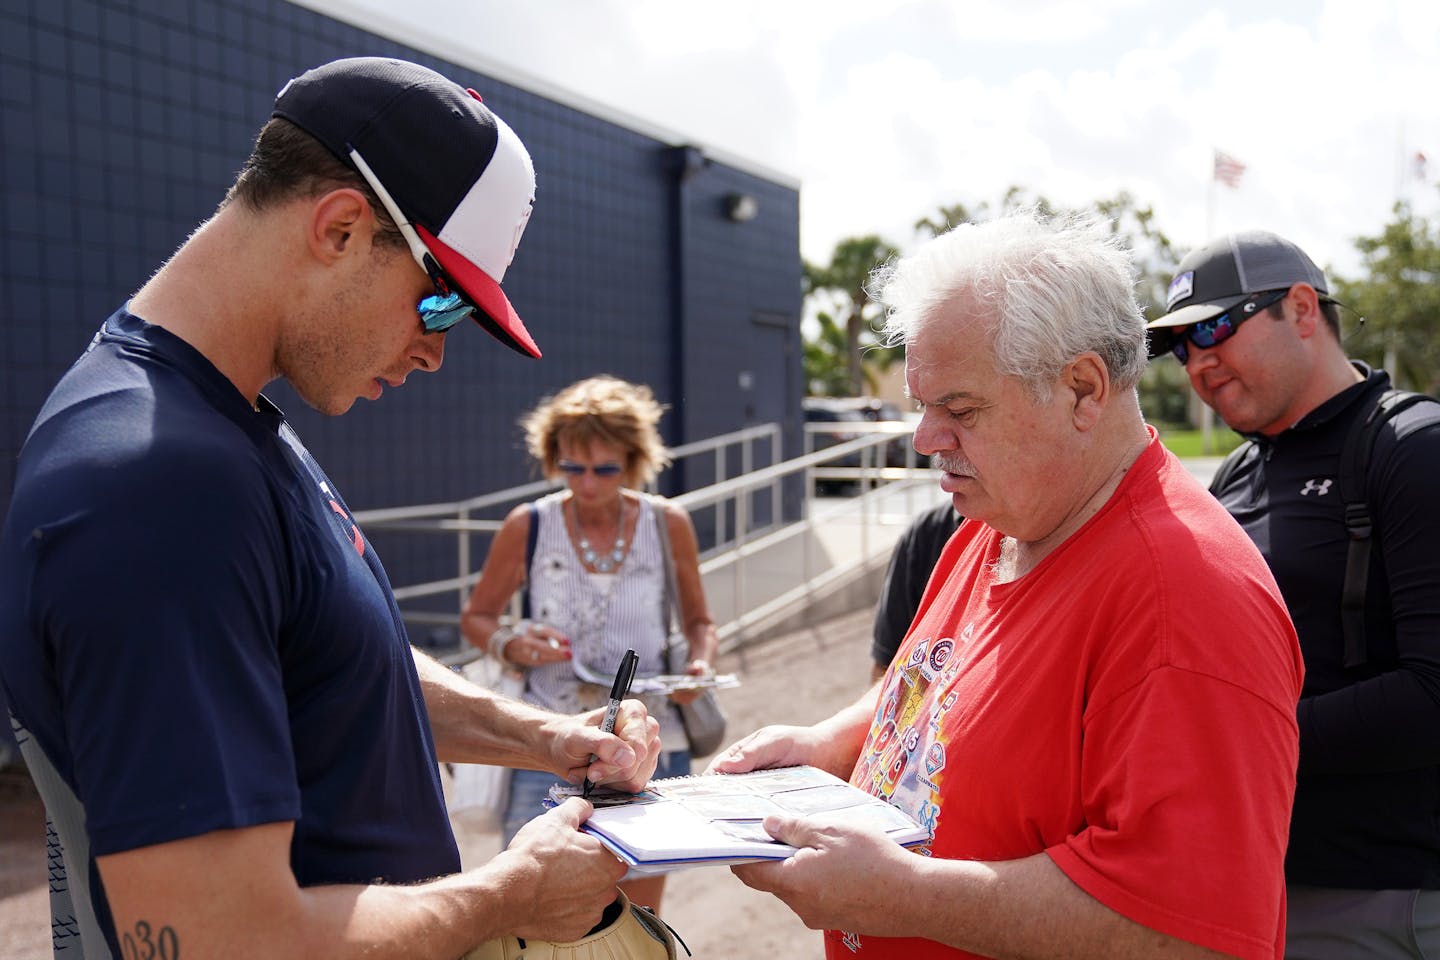
[[1218, 317], [1251, 294], [1309, 284], [1329, 299], [1325, 272], [1305, 250], [1264, 230], [1231, 233], [1191, 250], [1175, 268], [1166, 312], [1149, 330]]

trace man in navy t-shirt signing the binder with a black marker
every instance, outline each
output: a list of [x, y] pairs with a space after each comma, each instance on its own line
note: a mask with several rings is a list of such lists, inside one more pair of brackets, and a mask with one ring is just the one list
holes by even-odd
[[500, 289], [534, 174], [426, 68], [291, 81], [215, 216], [96, 332], [0, 533], [0, 679], [52, 822], [56, 953], [456, 957], [573, 940], [624, 866], [539, 818], [459, 874], [436, 759], [638, 789], [658, 733], [491, 697], [412, 651], [384, 570], [261, 390], [338, 415], [439, 368]]

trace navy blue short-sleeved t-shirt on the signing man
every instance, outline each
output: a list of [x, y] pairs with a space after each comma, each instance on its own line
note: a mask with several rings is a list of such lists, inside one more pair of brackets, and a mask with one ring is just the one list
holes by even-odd
[[99, 889], [95, 855], [278, 820], [301, 885], [459, 869], [405, 626], [350, 508], [274, 404], [124, 309], [20, 453], [0, 681], [58, 779], [52, 819], [56, 794], [84, 818], [72, 887], [85, 869]]

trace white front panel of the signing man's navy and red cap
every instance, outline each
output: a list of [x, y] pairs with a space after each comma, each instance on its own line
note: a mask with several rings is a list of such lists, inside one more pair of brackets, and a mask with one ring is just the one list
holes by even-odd
[[439, 240], [500, 284], [530, 222], [536, 171], [524, 144], [498, 117], [495, 132], [495, 155], [441, 227]]

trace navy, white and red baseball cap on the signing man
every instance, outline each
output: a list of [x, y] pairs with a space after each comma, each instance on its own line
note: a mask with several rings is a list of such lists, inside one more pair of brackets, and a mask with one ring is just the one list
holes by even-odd
[[359, 56], [285, 83], [272, 117], [366, 176], [426, 272], [458, 286], [500, 343], [540, 356], [500, 289], [530, 220], [534, 166], [480, 94], [418, 63]]

